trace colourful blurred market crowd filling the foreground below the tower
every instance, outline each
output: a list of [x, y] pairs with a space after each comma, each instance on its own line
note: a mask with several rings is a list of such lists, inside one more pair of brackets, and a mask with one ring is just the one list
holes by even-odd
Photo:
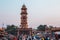
[[11, 34], [5, 34], [5, 35], [0, 35], [0, 40], [57, 40], [55, 35], [51, 36], [49, 34], [49, 36], [47, 36], [48, 34], [44, 35], [44, 34], [34, 34], [34, 35], [19, 35], [14, 36]]

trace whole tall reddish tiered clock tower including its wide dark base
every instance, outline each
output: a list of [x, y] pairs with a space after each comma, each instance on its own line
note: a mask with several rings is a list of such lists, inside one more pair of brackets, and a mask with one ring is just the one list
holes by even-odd
[[21, 25], [18, 29], [18, 34], [21, 35], [32, 35], [32, 28], [28, 28], [28, 22], [27, 22], [27, 8], [25, 5], [21, 8]]

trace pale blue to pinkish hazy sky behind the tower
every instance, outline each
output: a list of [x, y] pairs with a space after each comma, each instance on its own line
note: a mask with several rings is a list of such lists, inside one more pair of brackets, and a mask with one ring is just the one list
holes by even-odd
[[60, 0], [0, 0], [0, 27], [20, 25], [21, 7], [25, 4], [29, 27], [40, 24], [60, 26]]

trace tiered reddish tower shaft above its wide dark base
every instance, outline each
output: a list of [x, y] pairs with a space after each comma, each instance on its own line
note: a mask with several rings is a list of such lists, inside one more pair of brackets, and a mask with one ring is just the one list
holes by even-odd
[[21, 8], [21, 26], [20, 28], [28, 28], [27, 24], [27, 8], [25, 5]]

